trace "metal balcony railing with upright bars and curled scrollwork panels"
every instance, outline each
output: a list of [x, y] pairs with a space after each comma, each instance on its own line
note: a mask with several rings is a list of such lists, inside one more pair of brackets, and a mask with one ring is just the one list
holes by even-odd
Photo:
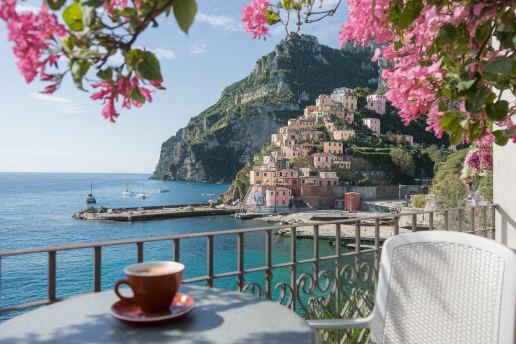
[[[180, 261], [180, 247], [184, 240], [205, 238], [206, 273], [188, 278], [184, 280], [184, 283], [202, 283], [208, 287], [213, 287], [214, 281], [217, 279], [235, 277], [236, 290], [275, 300], [307, 319], [364, 317], [373, 308], [377, 280], [376, 272], [380, 263], [381, 242], [383, 242], [386, 236], [398, 235], [400, 231], [415, 232], [418, 230], [431, 231], [439, 229], [494, 237], [495, 209], [496, 205], [470, 206], [308, 224], [295, 223], [243, 230], [0, 251], [0, 263], [2, 263], [1, 259], [3, 257], [8, 256], [47, 254], [46, 298], [0, 309], [0, 315], [67, 299], [56, 297], [57, 252], [90, 249], [93, 263], [91, 291], [99, 292], [101, 291], [103, 248], [133, 244], [136, 247], [135, 261], [139, 263], [143, 261], [144, 244], [156, 241], [169, 241], [171, 248], [170, 259]], [[330, 228], [332, 229], [328, 230], [328, 226], [331, 226]], [[300, 257], [301, 254], [297, 249], [298, 237], [300, 236], [298, 231], [302, 230], [301, 232], [304, 235], [306, 234], [307, 227], [312, 228], [310, 232], [313, 231], [312, 252], [309, 257], [307, 257], [306, 253], [303, 254], [303, 257]], [[385, 233], [386, 229], [389, 230], [389, 234], [381, 236], [381, 230]], [[348, 234], [343, 235], [342, 231]], [[352, 235], [349, 235], [350, 231]], [[294, 234], [288, 239], [290, 259], [286, 262], [273, 264], [272, 235], [285, 234], [285, 232], [287, 234]], [[246, 235], [252, 235], [252, 233], [265, 234], [265, 240], [263, 241], [265, 264], [260, 267], [245, 268], [246, 251], [244, 238]], [[214, 239], [225, 235], [236, 237], [236, 270], [214, 273]], [[330, 237], [331, 241], [328, 240]], [[332, 254], [321, 256], [320, 248], [323, 241], [335, 243]], [[351, 245], [352, 248], [343, 247], [342, 244]], [[0, 264], [0, 285], [2, 282], [1, 266]], [[289, 269], [288, 277], [273, 286], [273, 273], [280, 269]], [[251, 274], [255, 276], [256, 273], [263, 273], [263, 275], [258, 279], [254, 277], [254, 279], [251, 279], [253, 281], [246, 281], [246, 276]], [[5, 300], [5, 298], [2, 298], [2, 294], [5, 291], [5, 289], [0, 289], [0, 300]], [[335, 342], [345, 342], [346, 340], [365, 342], [368, 340], [368, 332], [366, 330], [351, 330], [348, 332], [332, 330], [325, 331], [322, 335], [326, 340]]]

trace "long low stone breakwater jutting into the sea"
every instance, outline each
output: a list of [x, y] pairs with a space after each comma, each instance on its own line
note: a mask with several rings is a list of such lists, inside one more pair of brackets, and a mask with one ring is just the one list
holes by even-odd
[[83, 210], [76, 212], [72, 217], [80, 220], [131, 222], [197, 216], [233, 215], [240, 212], [240, 208], [237, 206], [212, 208], [208, 203], [131, 208], [97, 208], [97, 210], [98, 209], [102, 210], [91, 212]]

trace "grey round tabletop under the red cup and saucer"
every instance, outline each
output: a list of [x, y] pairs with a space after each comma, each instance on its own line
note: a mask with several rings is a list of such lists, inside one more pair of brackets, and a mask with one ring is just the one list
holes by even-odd
[[113, 290], [43, 306], [0, 323], [0, 343], [320, 343], [287, 307], [231, 290], [181, 286], [196, 307], [184, 318], [142, 327], [111, 317]]

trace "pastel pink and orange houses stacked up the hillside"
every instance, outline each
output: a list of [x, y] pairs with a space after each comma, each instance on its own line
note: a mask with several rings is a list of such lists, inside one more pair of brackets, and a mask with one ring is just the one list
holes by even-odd
[[[365, 108], [379, 115], [385, 113], [386, 99], [381, 94], [366, 97]], [[249, 189], [242, 203], [266, 207], [268, 211], [285, 211], [296, 200], [317, 209], [355, 210], [360, 194], [337, 192], [350, 185], [337, 176], [338, 169], [350, 170], [353, 155], [346, 152], [346, 142], [355, 137], [355, 114], [358, 96], [346, 87], [331, 94], [320, 94], [315, 105], [304, 109], [302, 116], [288, 120], [286, 126], [271, 135], [263, 154], [254, 156], [249, 172]], [[381, 117], [381, 116], [380, 116]], [[381, 119], [363, 118], [370, 135], [380, 136]], [[412, 145], [411, 135], [396, 135], [394, 140]], [[348, 153], [348, 154], [347, 154]], [[302, 161], [303, 163], [298, 163]], [[303, 166], [301, 166], [303, 165]], [[362, 173], [382, 175], [382, 170]], [[397, 191], [397, 186], [394, 187]]]

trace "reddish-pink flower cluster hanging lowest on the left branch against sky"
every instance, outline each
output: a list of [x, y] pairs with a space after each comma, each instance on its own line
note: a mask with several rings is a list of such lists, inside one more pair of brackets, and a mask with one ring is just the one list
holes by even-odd
[[[109, 83], [108, 81], [100, 81], [99, 83], [93, 83], [93, 88], [100, 88], [99, 91], [91, 95], [91, 99], [103, 100], [104, 108], [102, 109], [102, 116], [105, 119], [109, 119], [111, 122], [115, 122], [115, 118], [119, 116], [119, 113], [115, 109], [115, 101], [118, 101], [118, 96], [123, 97], [122, 108], [130, 109], [131, 106], [140, 107], [143, 103], [137, 102], [131, 98], [131, 93], [135, 88], [138, 88], [140, 93], [147, 99], [149, 103], [152, 102], [151, 90], [140, 87], [140, 80], [137, 77], [130, 79], [130, 76], [124, 76], [118, 79], [116, 82]], [[150, 84], [157, 89], [165, 89], [161, 84], [162, 80], [150, 81]]]

